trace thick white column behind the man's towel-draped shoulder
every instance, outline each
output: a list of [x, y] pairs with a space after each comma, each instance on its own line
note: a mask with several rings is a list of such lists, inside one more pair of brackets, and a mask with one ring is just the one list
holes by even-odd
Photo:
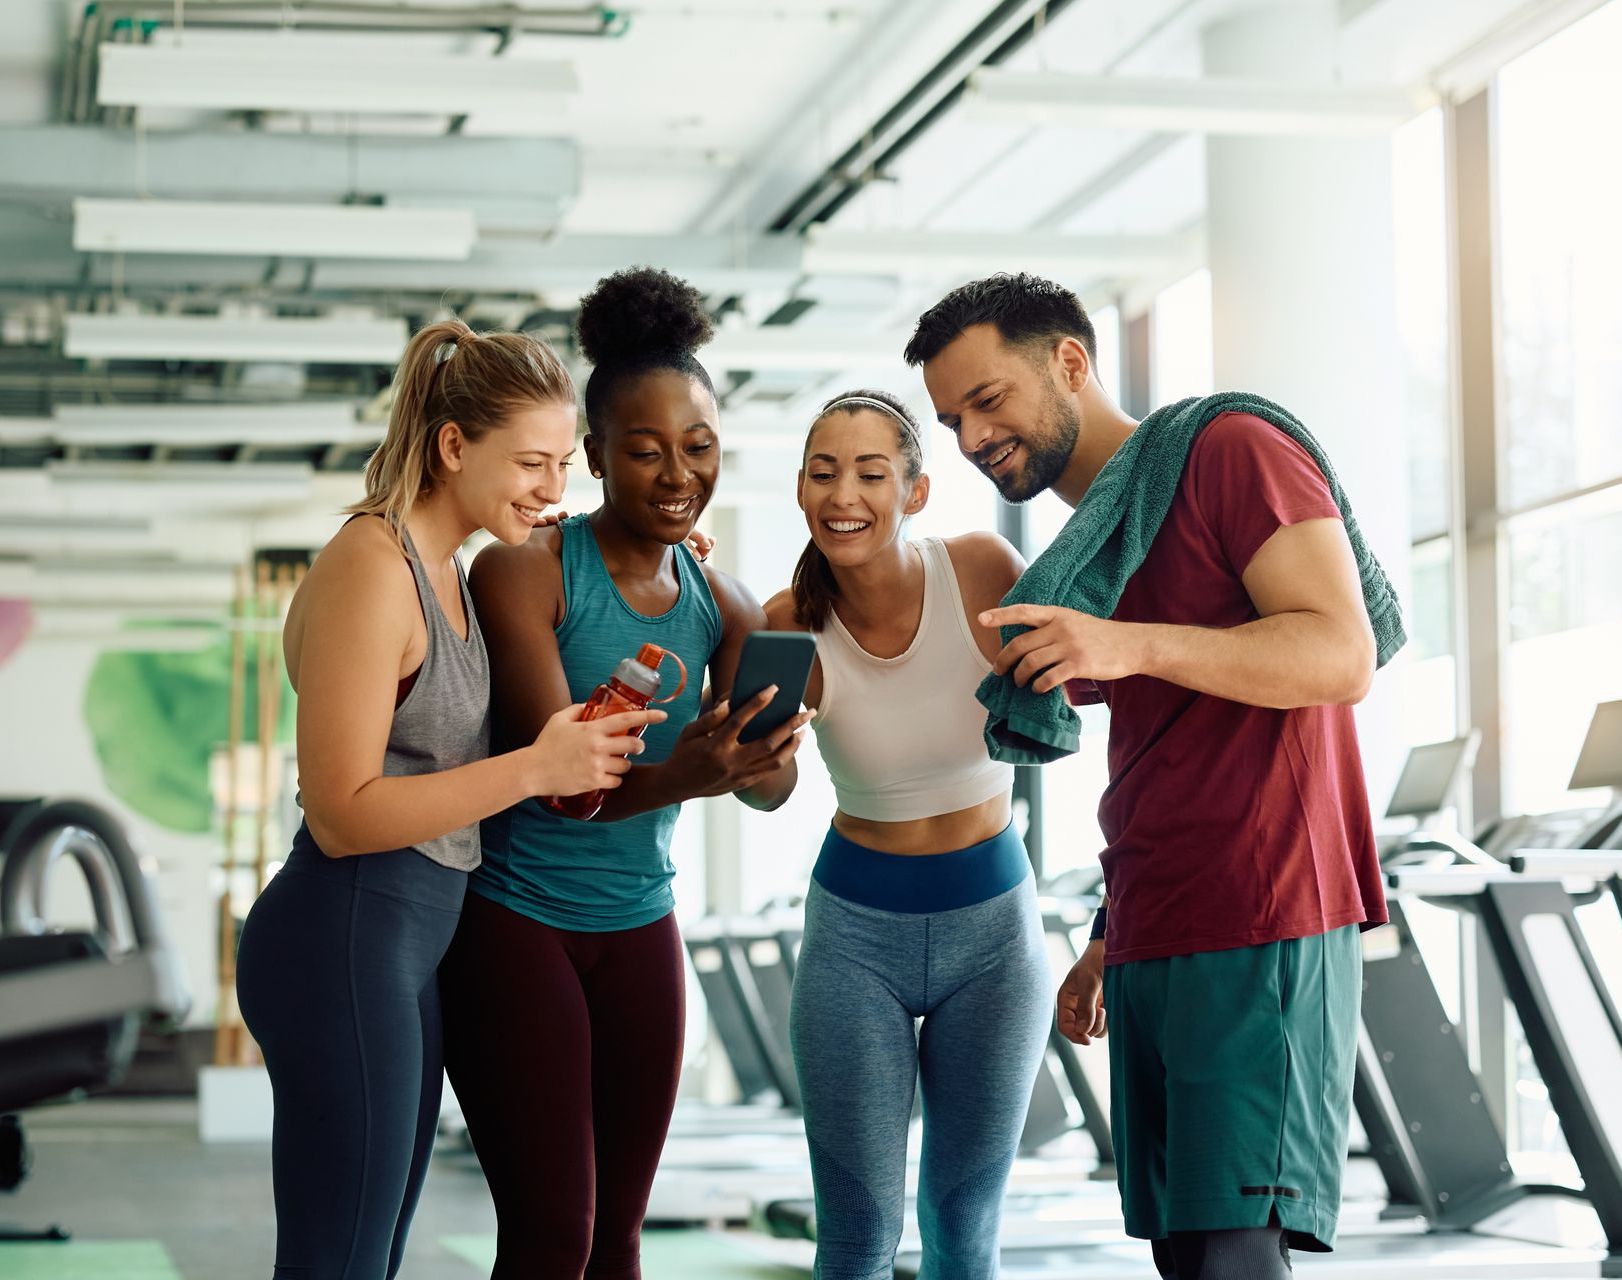
[[[1246, 6], [1205, 31], [1205, 73], [1332, 84], [1337, 34], [1333, 0]], [[1406, 597], [1390, 138], [1213, 136], [1205, 165], [1216, 386], [1307, 425]], [[1380, 811], [1403, 756], [1395, 680], [1375, 681], [1358, 724]]]

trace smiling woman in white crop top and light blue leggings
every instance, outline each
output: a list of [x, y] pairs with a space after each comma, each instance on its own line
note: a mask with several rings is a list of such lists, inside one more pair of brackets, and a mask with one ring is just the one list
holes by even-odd
[[991, 532], [913, 542], [918, 423], [882, 391], [835, 396], [798, 479], [811, 542], [774, 629], [809, 631], [806, 689], [839, 810], [806, 894], [792, 1033], [816, 1183], [819, 1280], [887, 1275], [915, 1084], [931, 1280], [991, 1280], [1002, 1192], [1051, 1020], [1014, 772], [975, 688], [1001, 647], [975, 618], [1023, 571]]

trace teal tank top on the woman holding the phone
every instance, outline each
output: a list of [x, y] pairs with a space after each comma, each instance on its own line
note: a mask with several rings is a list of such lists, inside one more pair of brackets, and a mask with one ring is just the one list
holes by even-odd
[[[688, 686], [662, 704], [670, 719], [647, 730], [647, 750], [637, 756], [657, 764], [699, 714], [704, 670], [722, 636], [715, 597], [693, 553], [676, 547], [676, 603], [657, 618], [637, 613], [608, 576], [587, 518], [571, 516], [560, 530], [564, 615], [558, 649], [571, 701], [584, 702], [620, 659], [636, 657], [642, 644], [668, 649], [686, 664]], [[678, 678], [675, 664], [660, 667], [660, 675], [668, 694]], [[623, 823], [576, 823], [540, 800], [524, 800], [483, 821], [483, 863], [469, 887], [560, 930], [605, 933], [650, 925], [675, 907], [670, 837], [680, 811], [680, 805], [668, 805]]]

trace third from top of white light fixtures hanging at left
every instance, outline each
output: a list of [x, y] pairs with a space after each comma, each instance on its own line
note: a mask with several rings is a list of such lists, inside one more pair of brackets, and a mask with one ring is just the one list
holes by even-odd
[[393, 365], [406, 321], [381, 316], [70, 315], [63, 349], [104, 360], [307, 360]]

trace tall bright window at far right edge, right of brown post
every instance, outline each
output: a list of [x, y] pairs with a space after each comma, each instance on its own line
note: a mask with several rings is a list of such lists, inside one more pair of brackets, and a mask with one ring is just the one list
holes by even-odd
[[1512, 813], [1583, 800], [1565, 790], [1583, 728], [1622, 696], [1622, 172], [1572, 127], [1622, 118], [1619, 58], [1611, 3], [1499, 76]]

